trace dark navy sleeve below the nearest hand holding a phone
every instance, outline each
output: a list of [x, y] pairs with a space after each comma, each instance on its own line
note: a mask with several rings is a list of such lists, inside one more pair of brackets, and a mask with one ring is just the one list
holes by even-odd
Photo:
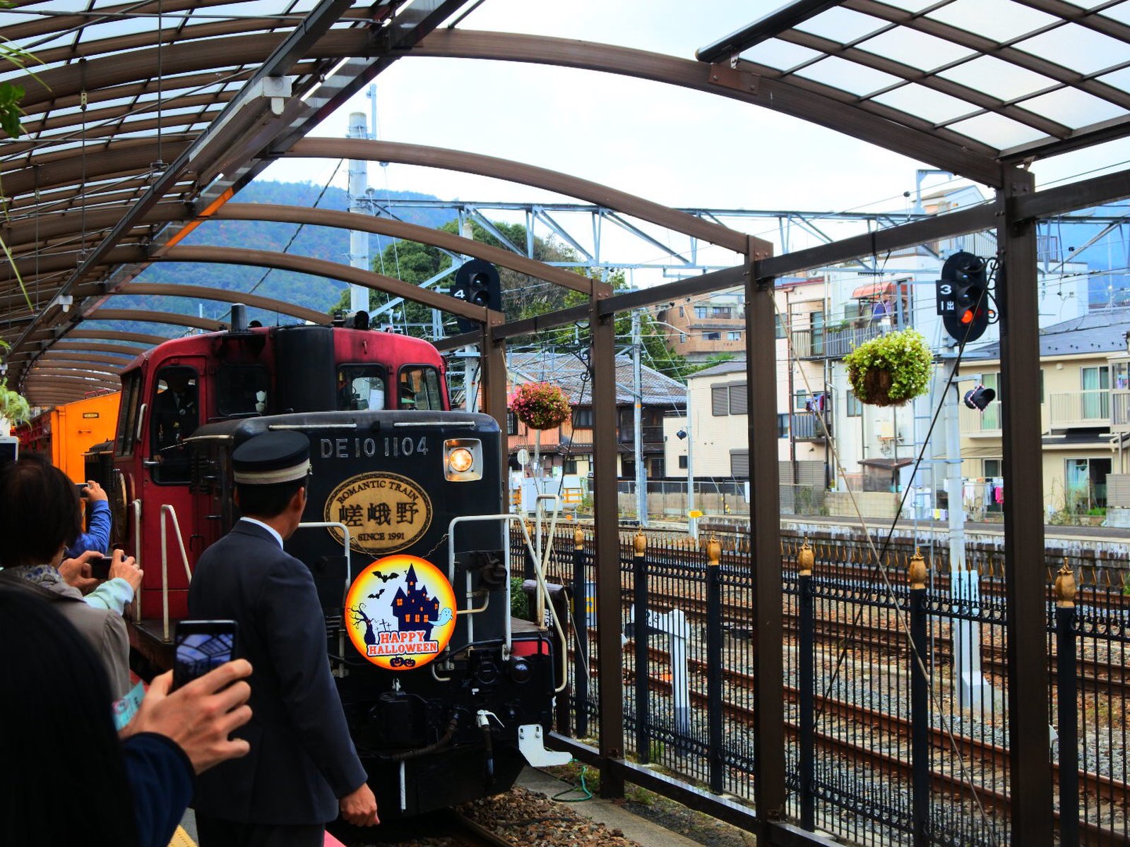
[[138, 847], [167, 847], [192, 801], [192, 763], [175, 742], [151, 732], [122, 743]]

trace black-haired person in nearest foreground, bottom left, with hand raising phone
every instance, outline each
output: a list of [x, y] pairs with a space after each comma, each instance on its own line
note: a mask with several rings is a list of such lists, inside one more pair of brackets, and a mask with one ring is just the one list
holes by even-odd
[[247, 753], [229, 735], [251, 717], [250, 673], [228, 662], [174, 692], [157, 676], [119, 735], [87, 639], [0, 588], [0, 844], [166, 847], [195, 775]]

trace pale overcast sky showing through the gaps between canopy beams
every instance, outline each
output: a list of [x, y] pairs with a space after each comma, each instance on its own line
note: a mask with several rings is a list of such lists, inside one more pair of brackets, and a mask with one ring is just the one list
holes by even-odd
[[[696, 49], [777, 6], [779, 0], [486, 0], [460, 28], [617, 43], [694, 59]], [[910, 201], [903, 192], [914, 190], [916, 168], [929, 167], [757, 106], [614, 75], [402, 59], [377, 77], [376, 86], [384, 140], [510, 158], [670, 206], [906, 209]], [[368, 114], [364, 94], [314, 134], [345, 136], [354, 111]], [[1037, 163], [1034, 169], [1038, 183], [1050, 184], [1128, 159], [1130, 141], [1123, 141]], [[322, 184], [334, 165], [282, 161], [264, 178]], [[334, 184], [346, 183], [342, 167]], [[370, 185], [444, 199], [547, 199], [524, 185], [402, 165], [372, 166]], [[748, 227], [756, 230], [764, 224]]]

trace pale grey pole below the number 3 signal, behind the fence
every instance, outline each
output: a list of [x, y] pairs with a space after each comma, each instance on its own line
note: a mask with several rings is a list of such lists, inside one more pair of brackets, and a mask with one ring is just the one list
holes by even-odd
[[[981, 602], [981, 580], [977, 571], [965, 568], [965, 506], [962, 498], [962, 434], [958, 429], [958, 409], [962, 390], [958, 384], [957, 356], [953, 353], [942, 377], [942, 386], [951, 386], [942, 398], [946, 414], [946, 495], [949, 515], [949, 588], [954, 597], [970, 604], [976, 614]], [[981, 672], [981, 625], [972, 620], [955, 620], [954, 666], [957, 676], [958, 702], [965, 708], [994, 708], [992, 686]]]

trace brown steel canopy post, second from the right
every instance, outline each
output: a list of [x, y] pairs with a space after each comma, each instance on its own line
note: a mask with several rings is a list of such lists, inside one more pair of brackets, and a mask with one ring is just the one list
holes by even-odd
[[758, 844], [784, 818], [784, 644], [781, 567], [781, 491], [776, 447], [776, 335], [772, 277], [757, 279], [755, 263], [768, 244], [746, 248], [746, 381], [749, 386], [749, 530], [754, 567], [754, 801]]

